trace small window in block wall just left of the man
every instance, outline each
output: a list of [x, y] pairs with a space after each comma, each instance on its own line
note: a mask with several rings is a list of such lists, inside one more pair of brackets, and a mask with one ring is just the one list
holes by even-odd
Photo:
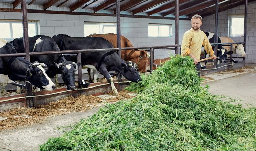
[[171, 24], [149, 24], [148, 37], [172, 37]]

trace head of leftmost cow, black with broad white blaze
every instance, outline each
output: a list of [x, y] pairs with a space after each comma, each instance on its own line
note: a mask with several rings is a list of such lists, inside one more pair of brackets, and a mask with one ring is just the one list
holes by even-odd
[[28, 72], [26, 73], [26, 80], [40, 89], [52, 91], [56, 88], [56, 85], [45, 73], [47, 70], [48, 67], [44, 63], [35, 61], [29, 66]]

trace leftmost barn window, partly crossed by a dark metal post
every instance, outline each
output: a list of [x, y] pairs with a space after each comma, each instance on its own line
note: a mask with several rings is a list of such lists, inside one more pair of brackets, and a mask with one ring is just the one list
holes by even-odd
[[[38, 23], [28, 21], [29, 37], [38, 35]], [[0, 38], [7, 41], [23, 37], [22, 21], [0, 21], [1, 34]]]

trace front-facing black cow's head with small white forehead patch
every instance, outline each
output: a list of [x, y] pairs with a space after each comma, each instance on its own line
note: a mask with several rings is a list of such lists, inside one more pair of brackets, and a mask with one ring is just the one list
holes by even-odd
[[67, 90], [75, 89], [75, 72], [77, 71], [80, 63], [75, 63], [71, 61], [65, 61], [63, 63], [55, 63], [55, 66], [60, 69], [62, 79], [67, 86]]

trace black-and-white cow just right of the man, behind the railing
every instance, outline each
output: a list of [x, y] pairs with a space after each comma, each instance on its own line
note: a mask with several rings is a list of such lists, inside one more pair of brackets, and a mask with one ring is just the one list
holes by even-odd
[[[209, 40], [210, 43], [215, 43], [215, 34], [210, 33], [210, 32], [205, 32], [207, 39]], [[218, 37], [218, 43], [221, 43], [221, 39]], [[212, 49], [214, 51], [215, 46], [212, 45]], [[217, 49], [217, 57], [220, 59], [221, 63], [226, 63], [227, 61], [227, 55], [230, 55], [233, 53], [233, 51], [227, 52], [227, 49], [224, 49], [221, 44], [218, 44], [218, 49]], [[205, 58], [206, 58], [206, 51], [204, 50]], [[205, 62], [206, 63], [206, 62]]]

